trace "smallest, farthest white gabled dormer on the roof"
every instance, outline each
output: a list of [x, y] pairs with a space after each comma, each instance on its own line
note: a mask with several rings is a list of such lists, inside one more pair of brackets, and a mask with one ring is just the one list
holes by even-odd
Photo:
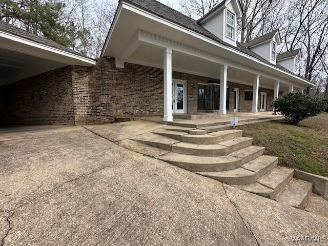
[[277, 55], [277, 63], [293, 73], [298, 73], [299, 59], [302, 58], [301, 49], [286, 51]]

